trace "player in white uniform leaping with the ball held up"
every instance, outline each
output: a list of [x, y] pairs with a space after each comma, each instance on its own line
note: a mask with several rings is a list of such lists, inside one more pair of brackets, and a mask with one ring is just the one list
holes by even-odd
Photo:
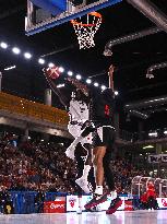
[[[90, 193], [87, 177], [92, 167], [92, 134], [87, 135], [86, 128], [86, 122], [90, 119], [90, 97], [87, 95], [87, 91], [85, 90], [85, 85], [71, 78], [67, 79], [67, 84], [72, 84], [71, 87], [73, 87], [73, 91], [70, 91], [70, 94], [69, 92], [64, 93], [64, 91], [58, 89], [57, 84], [52, 80], [59, 78], [57, 67], [55, 67], [53, 69], [44, 69], [44, 74], [50, 87], [58, 95], [60, 102], [69, 113], [70, 121], [68, 125], [68, 129], [69, 132], [75, 138], [75, 140], [67, 150], [65, 154], [72, 160], [74, 160], [74, 157], [76, 158], [76, 166], [79, 170], [77, 176], [80, 178], [77, 178], [75, 182], [83, 189], [84, 192]], [[87, 151], [87, 158], [84, 168], [81, 164], [81, 148], [82, 150], [84, 149]], [[75, 151], [75, 149], [79, 150]]]

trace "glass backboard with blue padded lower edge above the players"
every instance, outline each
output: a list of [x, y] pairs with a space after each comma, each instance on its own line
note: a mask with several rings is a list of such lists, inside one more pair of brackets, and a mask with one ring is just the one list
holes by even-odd
[[34, 35], [122, 0], [27, 0], [26, 35]]

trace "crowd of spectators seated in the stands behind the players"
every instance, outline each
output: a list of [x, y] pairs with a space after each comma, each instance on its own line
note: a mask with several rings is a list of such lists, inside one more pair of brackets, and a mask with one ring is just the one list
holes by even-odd
[[[0, 140], [0, 188], [52, 192], [75, 192], [75, 163], [64, 154], [63, 143], [41, 141], [13, 144], [13, 135]], [[111, 161], [116, 187], [119, 192], [130, 193], [134, 176], [148, 176], [124, 158]]]

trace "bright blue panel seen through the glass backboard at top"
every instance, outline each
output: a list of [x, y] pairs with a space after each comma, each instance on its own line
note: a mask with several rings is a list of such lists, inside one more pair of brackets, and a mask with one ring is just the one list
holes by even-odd
[[67, 0], [31, 0], [33, 4], [39, 7], [52, 15], [67, 11]]

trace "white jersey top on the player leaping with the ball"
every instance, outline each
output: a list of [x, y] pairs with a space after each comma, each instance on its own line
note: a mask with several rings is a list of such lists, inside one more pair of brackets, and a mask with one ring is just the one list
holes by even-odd
[[71, 118], [70, 121], [77, 121], [84, 123], [86, 120], [90, 119], [88, 106], [82, 101], [71, 99], [69, 114]]

